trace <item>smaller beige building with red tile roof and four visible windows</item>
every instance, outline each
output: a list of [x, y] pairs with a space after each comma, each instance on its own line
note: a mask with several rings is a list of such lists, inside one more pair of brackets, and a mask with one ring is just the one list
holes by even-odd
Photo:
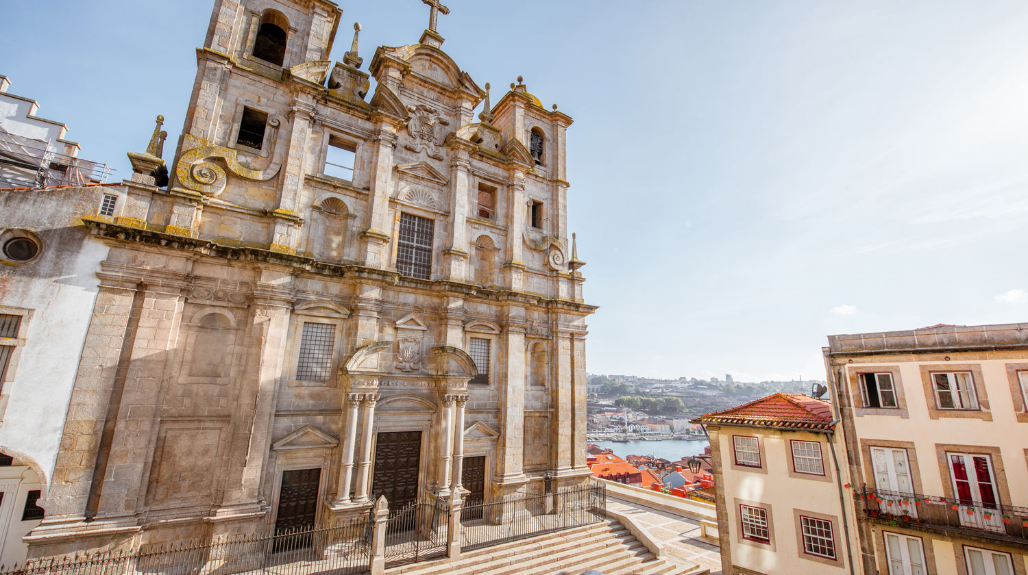
[[832, 404], [775, 393], [694, 422], [710, 435], [726, 575], [860, 572]]

